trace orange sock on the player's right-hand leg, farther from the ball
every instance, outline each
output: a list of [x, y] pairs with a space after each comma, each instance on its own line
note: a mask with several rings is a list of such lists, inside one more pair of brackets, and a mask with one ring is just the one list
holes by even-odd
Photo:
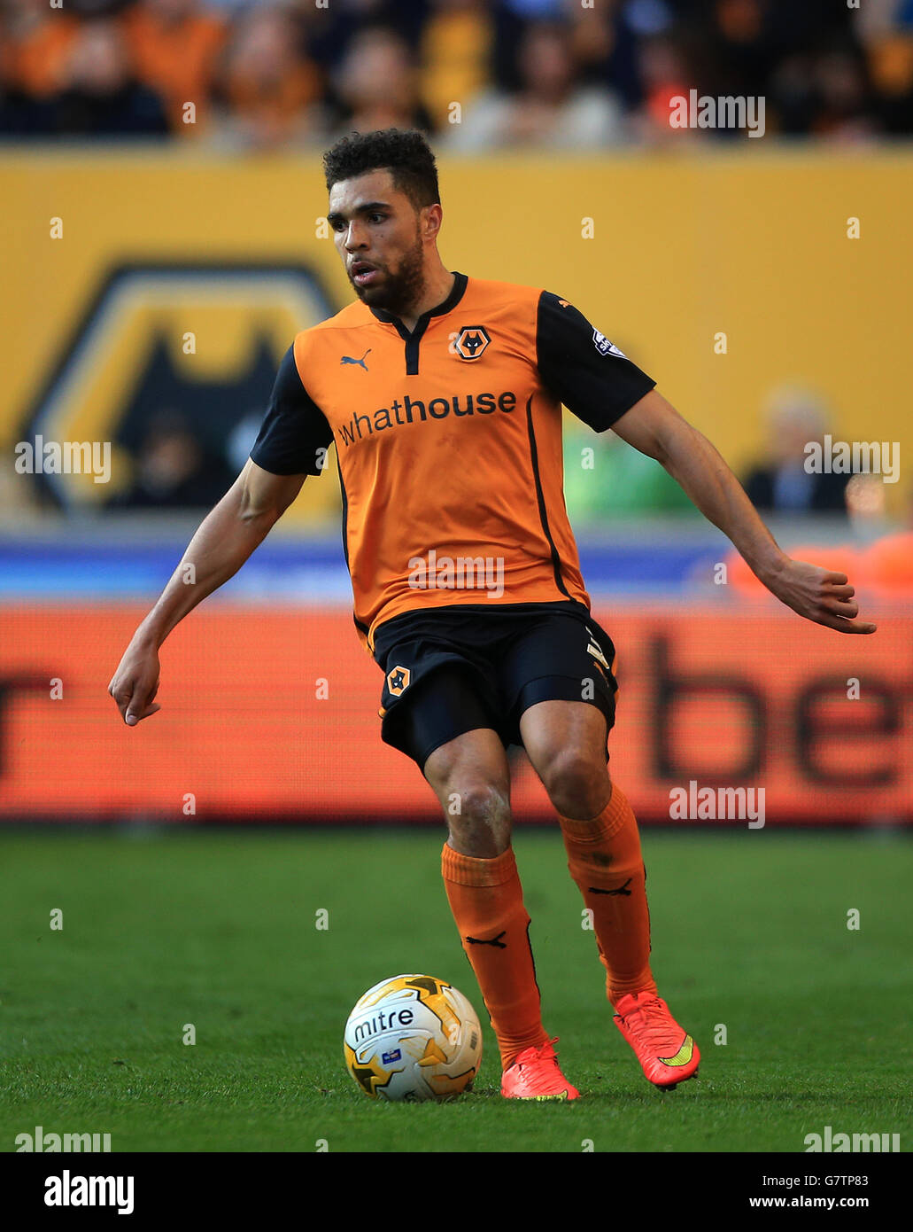
[[607, 997], [614, 1004], [625, 993], [656, 992], [650, 970], [647, 873], [631, 806], [613, 784], [598, 817], [560, 821], [567, 867], [593, 913]]

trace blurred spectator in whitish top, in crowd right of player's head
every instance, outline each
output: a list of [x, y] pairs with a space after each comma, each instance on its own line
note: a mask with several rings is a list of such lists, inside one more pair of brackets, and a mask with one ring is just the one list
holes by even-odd
[[519, 47], [520, 90], [487, 91], [471, 105], [448, 137], [459, 150], [540, 145], [597, 148], [626, 136], [618, 99], [600, 86], [583, 85], [571, 28], [564, 22], [533, 22]]

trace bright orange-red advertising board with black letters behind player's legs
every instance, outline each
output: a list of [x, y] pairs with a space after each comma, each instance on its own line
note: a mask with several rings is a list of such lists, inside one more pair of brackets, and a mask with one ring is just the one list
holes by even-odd
[[[107, 685], [143, 614], [4, 611], [0, 817], [436, 818], [413, 764], [380, 740], [381, 675], [348, 611], [194, 612], [162, 648], [161, 712], [127, 728]], [[789, 612], [594, 614], [618, 652], [610, 771], [642, 821], [913, 821], [908, 615], [842, 638]], [[514, 769], [514, 816], [549, 821], [529, 766]]]

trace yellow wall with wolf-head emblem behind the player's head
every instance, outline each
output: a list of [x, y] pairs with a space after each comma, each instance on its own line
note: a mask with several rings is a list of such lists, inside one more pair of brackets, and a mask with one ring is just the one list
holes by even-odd
[[[701, 149], [439, 168], [447, 266], [571, 299], [738, 472], [763, 451], [764, 400], [784, 382], [823, 397], [835, 437], [903, 442], [913, 155]], [[7, 464], [41, 431], [113, 442], [111, 488], [62, 477], [64, 504], [126, 482], [121, 429], [150, 391], [203, 408], [237, 453], [294, 334], [352, 297], [319, 150], [6, 150], [0, 195]], [[903, 461], [886, 494], [901, 514]], [[290, 516], [337, 509], [325, 478]]]

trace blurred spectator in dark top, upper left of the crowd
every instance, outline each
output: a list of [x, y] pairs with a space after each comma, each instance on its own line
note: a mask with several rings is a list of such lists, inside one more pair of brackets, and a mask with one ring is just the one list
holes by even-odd
[[50, 100], [52, 132], [75, 137], [165, 137], [162, 100], [133, 75], [123, 28], [86, 21], [68, 48], [64, 87]]

